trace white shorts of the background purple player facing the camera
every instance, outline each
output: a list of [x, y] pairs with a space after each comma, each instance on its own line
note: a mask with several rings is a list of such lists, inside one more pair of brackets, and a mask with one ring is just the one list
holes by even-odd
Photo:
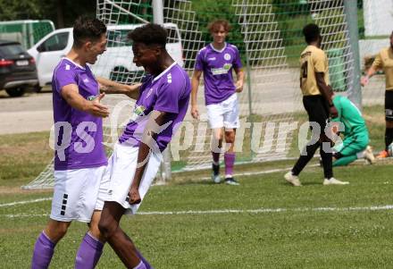
[[211, 129], [238, 128], [238, 96], [236, 93], [219, 104], [206, 105], [207, 120]]

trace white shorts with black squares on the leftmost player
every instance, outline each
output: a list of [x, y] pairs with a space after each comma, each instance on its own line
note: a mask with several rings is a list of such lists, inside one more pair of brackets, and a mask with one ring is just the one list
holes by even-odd
[[54, 198], [50, 218], [89, 223], [106, 166], [54, 171]]

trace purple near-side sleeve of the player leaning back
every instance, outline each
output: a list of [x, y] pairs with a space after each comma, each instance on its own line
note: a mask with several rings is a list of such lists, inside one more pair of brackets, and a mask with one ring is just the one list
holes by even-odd
[[181, 81], [172, 81], [165, 83], [157, 89], [157, 99], [154, 109], [156, 111], [167, 113], [179, 113], [179, 100], [182, 89]]

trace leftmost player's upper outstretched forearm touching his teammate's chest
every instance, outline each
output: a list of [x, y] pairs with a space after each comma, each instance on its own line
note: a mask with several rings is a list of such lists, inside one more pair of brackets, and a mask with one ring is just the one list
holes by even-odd
[[100, 91], [107, 94], [124, 94], [131, 99], [138, 99], [139, 88], [142, 85], [137, 83], [134, 85], [122, 84], [113, 80], [107, 80], [102, 77], [97, 77], [96, 80], [100, 85]]

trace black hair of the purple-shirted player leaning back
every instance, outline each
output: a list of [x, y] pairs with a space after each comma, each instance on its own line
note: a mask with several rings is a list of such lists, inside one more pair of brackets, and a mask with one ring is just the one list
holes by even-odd
[[128, 38], [135, 43], [143, 43], [147, 46], [159, 45], [165, 47], [168, 33], [163, 26], [155, 23], [147, 23], [138, 27], [128, 34]]

